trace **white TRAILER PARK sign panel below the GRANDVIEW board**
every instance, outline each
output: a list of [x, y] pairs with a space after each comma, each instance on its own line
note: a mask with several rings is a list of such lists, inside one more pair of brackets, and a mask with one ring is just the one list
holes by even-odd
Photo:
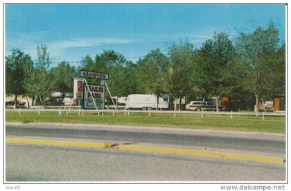
[[[105, 86], [103, 85], [83, 85], [84, 86], [84, 108], [95, 109], [94, 101], [97, 108], [104, 108]], [[90, 93], [90, 91], [91, 93]], [[94, 101], [93, 101], [93, 99]]]

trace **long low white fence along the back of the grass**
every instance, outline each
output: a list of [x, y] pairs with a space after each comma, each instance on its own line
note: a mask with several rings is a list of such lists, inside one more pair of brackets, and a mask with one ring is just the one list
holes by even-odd
[[147, 113], [149, 116], [150, 114], [154, 113], [161, 113], [161, 114], [173, 114], [174, 116], [177, 114], [187, 114], [187, 115], [230, 115], [231, 117], [233, 115], [255, 115], [255, 116], [284, 116], [286, 115], [285, 112], [279, 112], [279, 113], [268, 113], [268, 112], [232, 112], [232, 111], [220, 111], [220, 112], [215, 112], [215, 111], [175, 111], [175, 110], [114, 110], [114, 109], [99, 109], [99, 110], [82, 110], [81, 108], [75, 108], [75, 109], [68, 109], [68, 108], [51, 108], [51, 109], [44, 109], [44, 108], [30, 108], [30, 109], [22, 109], [22, 108], [17, 108], [17, 109], [7, 109], [6, 111], [15, 111], [19, 112], [56, 112], [56, 113]]

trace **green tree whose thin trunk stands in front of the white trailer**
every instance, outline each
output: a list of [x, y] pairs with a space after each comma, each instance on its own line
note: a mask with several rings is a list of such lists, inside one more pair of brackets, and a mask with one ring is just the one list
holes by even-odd
[[143, 87], [146, 93], [156, 95], [157, 110], [159, 108], [159, 97], [161, 97], [161, 94], [168, 92], [167, 78], [169, 67], [168, 58], [160, 49], [150, 51], [139, 63]]

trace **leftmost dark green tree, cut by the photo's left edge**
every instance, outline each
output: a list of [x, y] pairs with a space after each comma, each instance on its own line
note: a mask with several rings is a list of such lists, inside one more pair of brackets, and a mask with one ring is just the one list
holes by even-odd
[[33, 65], [28, 54], [13, 49], [11, 55], [6, 56], [6, 94], [14, 94], [15, 107], [17, 106], [17, 97], [27, 94], [24, 88], [24, 78], [26, 76], [26, 68]]

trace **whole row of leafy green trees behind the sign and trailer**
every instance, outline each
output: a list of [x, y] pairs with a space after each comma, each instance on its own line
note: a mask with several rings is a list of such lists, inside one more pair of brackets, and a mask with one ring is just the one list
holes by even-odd
[[[133, 63], [121, 53], [105, 50], [94, 58], [85, 56], [81, 65], [66, 61], [51, 67], [48, 47], [37, 47], [37, 59], [13, 49], [6, 56], [6, 94], [38, 97], [42, 104], [52, 92], [62, 97], [73, 92], [73, 78], [78, 70], [109, 73], [107, 85], [116, 97], [128, 94], [162, 94], [170, 101], [182, 99], [218, 99], [227, 97], [233, 110], [258, 106], [259, 99], [270, 100], [285, 94], [285, 44], [279, 43], [279, 29], [270, 23], [253, 33], [240, 33], [230, 40], [227, 33], [214, 33], [200, 48], [188, 41], [159, 48]], [[98, 84], [96, 79], [88, 83]], [[107, 95], [108, 99], [108, 95]]]

